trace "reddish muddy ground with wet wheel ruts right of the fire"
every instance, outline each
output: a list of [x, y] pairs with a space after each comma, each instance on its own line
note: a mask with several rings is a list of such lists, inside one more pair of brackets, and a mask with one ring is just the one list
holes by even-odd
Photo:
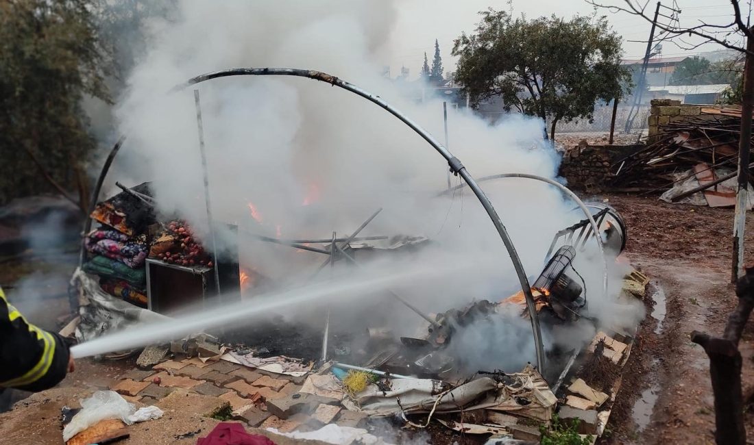
[[[714, 443], [709, 365], [689, 335], [721, 334], [736, 305], [730, 283], [733, 210], [670, 205], [654, 197], [600, 198], [608, 199], [626, 219], [627, 258], [661, 289], [648, 293], [647, 317], [624, 372], [610, 434], [600, 442]], [[749, 261], [754, 260], [752, 242], [754, 230], [747, 230]], [[754, 388], [751, 326], [749, 322], [740, 345], [744, 395]], [[751, 439], [751, 413], [747, 422]]]

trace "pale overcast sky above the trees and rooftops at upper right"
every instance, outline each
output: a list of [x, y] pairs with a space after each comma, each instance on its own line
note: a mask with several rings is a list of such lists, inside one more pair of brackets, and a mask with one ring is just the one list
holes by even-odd
[[[636, 2], [636, 0], [633, 0]], [[639, 0], [647, 2], [647, 0]], [[513, 0], [513, 13], [526, 14], [534, 18], [555, 14], [559, 17], [573, 17], [575, 14], [588, 15], [593, 7], [584, 0]], [[603, 0], [605, 5], [625, 5], [623, 0]], [[728, 23], [732, 17], [729, 0], [664, 0], [663, 5], [676, 8], [682, 12], [679, 20], [682, 26], [694, 26], [698, 20], [706, 23]], [[746, 15], [749, 2], [741, 0], [742, 13]], [[651, 0], [647, 8], [648, 14], [654, 14], [656, 2]], [[440, 43], [445, 71], [455, 66], [455, 59], [450, 55], [453, 39], [461, 32], [473, 32], [479, 21], [478, 11], [486, 8], [508, 9], [507, 0], [453, 0], [437, 2], [437, 0], [401, 0], [398, 6], [398, 20], [390, 37], [389, 50], [385, 52], [385, 65], [391, 67], [391, 75], [400, 74], [400, 67], [409, 68], [410, 77], [415, 78], [424, 61], [427, 52], [430, 63], [434, 54], [434, 40]], [[666, 11], [669, 13], [669, 11]], [[649, 35], [650, 23], [641, 17], [634, 17], [625, 12], [611, 13], [602, 10], [600, 14], [608, 17], [608, 21], [618, 34], [624, 37], [624, 58], [641, 59], [646, 50], [646, 39]], [[688, 40], [688, 39], [687, 39]], [[643, 42], [641, 42], [643, 41]], [[694, 44], [698, 41], [689, 40]], [[716, 44], [704, 44], [693, 51], [682, 50], [675, 44], [665, 42], [662, 48], [663, 56], [682, 56], [691, 53], [718, 50]]]

